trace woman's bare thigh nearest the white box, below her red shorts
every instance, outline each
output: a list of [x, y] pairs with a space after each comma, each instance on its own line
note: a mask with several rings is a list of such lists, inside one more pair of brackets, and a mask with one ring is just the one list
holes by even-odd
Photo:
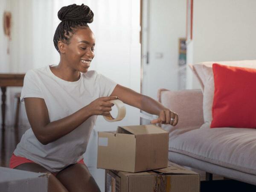
[[62, 183], [54, 175], [52, 175], [47, 169], [38, 165], [37, 163], [23, 163], [14, 169], [29, 172], [49, 173], [48, 192], [68, 192], [64, 185], [62, 185]]

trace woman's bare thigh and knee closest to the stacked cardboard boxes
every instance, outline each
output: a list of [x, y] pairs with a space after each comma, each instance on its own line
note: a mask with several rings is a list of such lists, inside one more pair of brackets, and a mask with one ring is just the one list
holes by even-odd
[[100, 192], [86, 165], [76, 163], [56, 176], [69, 192]]

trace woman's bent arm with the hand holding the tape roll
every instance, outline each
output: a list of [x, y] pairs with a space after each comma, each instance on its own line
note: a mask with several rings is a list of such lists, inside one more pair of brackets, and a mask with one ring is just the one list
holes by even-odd
[[109, 111], [111, 111], [113, 104], [109, 101], [113, 99], [117, 99], [117, 97], [98, 98], [70, 116], [53, 122], [49, 120], [44, 99], [31, 97], [25, 98], [24, 101], [29, 123], [35, 137], [40, 143], [47, 145], [73, 131], [90, 116], [110, 114]]

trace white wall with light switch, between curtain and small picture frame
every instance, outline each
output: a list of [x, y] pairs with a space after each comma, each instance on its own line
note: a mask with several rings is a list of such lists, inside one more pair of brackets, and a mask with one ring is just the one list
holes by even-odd
[[[186, 36], [186, 0], [149, 0], [149, 64], [143, 64], [143, 94], [178, 88], [179, 38]], [[163, 54], [157, 58], [157, 54]]]

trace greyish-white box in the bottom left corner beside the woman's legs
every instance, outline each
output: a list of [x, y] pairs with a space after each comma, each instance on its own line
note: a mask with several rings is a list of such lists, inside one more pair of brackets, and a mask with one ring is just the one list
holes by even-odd
[[0, 167], [0, 192], [47, 192], [48, 173]]

